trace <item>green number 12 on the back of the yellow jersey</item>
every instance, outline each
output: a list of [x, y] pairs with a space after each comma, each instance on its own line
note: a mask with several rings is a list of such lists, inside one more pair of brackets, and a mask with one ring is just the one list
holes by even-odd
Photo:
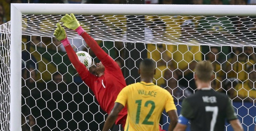
[[[136, 100], [135, 101], [136, 104], [138, 104], [137, 106], [137, 113], [136, 113], [136, 124], [139, 124], [140, 121], [140, 111], [141, 111], [141, 104], [142, 104], [142, 100]], [[149, 113], [147, 114], [147, 116], [145, 117], [144, 121], [142, 122], [142, 124], [148, 124], [148, 125], [154, 125], [154, 121], [149, 121], [150, 116], [152, 115], [156, 105], [154, 101], [146, 101], [144, 104], [144, 107], [148, 107], [148, 105], [151, 104], [151, 108]]]

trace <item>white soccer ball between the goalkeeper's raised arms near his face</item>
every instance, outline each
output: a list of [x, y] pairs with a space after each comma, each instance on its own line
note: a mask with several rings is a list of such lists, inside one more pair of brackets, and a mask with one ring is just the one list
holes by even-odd
[[[78, 51], [76, 55], [81, 63], [83, 63], [87, 69], [92, 65], [92, 57], [88, 52]], [[72, 65], [73, 66], [73, 65]], [[74, 66], [73, 66], [74, 67]]]

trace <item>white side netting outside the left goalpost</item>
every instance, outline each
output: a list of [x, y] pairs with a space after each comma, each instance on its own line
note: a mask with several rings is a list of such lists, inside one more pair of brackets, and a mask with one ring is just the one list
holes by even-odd
[[10, 22], [0, 25], [0, 130], [10, 122]]

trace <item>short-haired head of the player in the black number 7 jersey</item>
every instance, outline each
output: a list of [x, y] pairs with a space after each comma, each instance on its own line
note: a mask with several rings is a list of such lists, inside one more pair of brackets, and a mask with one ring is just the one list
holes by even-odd
[[213, 75], [213, 66], [210, 61], [198, 62], [195, 66], [195, 74], [203, 82], [211, 81]]

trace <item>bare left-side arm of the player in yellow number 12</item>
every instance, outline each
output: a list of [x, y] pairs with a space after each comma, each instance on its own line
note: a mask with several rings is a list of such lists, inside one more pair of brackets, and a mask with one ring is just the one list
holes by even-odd
[[111, 111], [111, 113], [109, 114], [109, 116], [107, 116], [106, 122], [104, 124], [104, 127], [102, 129], [102, 131], [109, 131], [109, 129], [113, 126], [113, 124], [116, 121], [116, 118], [118, 117], [119, 112], [124, 108], [124, 106], [118, 102], [115, 102], [115, 105]]

